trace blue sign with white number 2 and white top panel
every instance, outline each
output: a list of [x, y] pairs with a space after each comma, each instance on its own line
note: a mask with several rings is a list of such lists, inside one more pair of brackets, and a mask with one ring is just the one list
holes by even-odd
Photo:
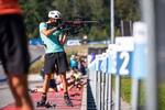
[[130, 76], [133, 53], [133, 37], [117, 37], [117, 75]]

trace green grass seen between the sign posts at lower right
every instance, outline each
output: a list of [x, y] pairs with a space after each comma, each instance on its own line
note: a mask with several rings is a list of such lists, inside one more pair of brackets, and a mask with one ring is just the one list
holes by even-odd
[[[116, 76], [112, 76], [112, 88], [116, 90]], [[130, 77], [121, 77], [121, 97], [124, 101], [131, 105], [131, 88], [132, 79]], [[143, 107], [145, 103], [145, 81], [140, 80], [139, 88], [139, 106]], [[152, 91], [151, 91], [152, 92]], [[157, 85], [157, 109], [165, 110], [165, 81]]]

